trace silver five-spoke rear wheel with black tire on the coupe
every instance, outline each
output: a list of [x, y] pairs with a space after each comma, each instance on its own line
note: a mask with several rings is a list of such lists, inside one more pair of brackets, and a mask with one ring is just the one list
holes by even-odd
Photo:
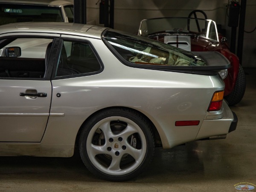
[[92, 116], [79, 137], [81, 159], [97, 177], [125, 181], [137, 177], [154, 155], [154, 137], [138, 112], [112, 108]]

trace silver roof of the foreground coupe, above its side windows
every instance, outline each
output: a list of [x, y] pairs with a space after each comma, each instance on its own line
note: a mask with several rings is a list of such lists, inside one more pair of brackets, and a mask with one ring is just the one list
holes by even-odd
[[94, 26], [79, 23], [26, 22], [2, 25], [0, 26], [0, 34], [10, 32], [33, 32], [56, 33], [62, 35], [78, 35], [84, 37], [101, 38], [101, 34], [105, 29], [107, 28], [102, 26]]

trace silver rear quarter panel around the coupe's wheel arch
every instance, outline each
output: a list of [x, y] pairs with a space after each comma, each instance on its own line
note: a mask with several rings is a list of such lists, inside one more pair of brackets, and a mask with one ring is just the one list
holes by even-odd
[[[50, 113], [64, 115], [50, 115], [42, 145], [73, 147], [83, 122], [109, 107], [143, 113], [157, 128], [164, 148], [195, 140], [213, 93], [224, 89], [219, 76], [128, 67], [101, 40], [89, 40], [104, 70], [96, 75], [52, 81]], [[182, 120], [199, 120], [200, 124], [175, 127], [175, 121]]]

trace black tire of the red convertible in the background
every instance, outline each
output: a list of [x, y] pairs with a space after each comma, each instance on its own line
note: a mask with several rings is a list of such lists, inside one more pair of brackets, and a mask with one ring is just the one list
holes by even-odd
[[245, 92], [245, 87], [246, 87], [246, 79], [245, 79], [244, 70], [243, 70], [243, 67], [239, 64], [239, 72], [236, 79], [235, 87], [229, 95], [225, 96], [225, 99], [227, 100], [228, 105], [230, 106], [236, 105], [242, 100]]

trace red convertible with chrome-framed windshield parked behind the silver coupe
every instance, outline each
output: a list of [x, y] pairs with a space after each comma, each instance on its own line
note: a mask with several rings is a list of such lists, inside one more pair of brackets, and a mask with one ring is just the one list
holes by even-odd
[[230, 52], [227, 39], [218, 34], [215, 21], [189, 17], [162, 17], [142, 20], [138, 35], [171, 44], [183, 52], [217, 51], [231, 64], [219, 72], [225, 82], [224, 98], [236, 105], [244, 96], [246, 79], [239, 58]]

